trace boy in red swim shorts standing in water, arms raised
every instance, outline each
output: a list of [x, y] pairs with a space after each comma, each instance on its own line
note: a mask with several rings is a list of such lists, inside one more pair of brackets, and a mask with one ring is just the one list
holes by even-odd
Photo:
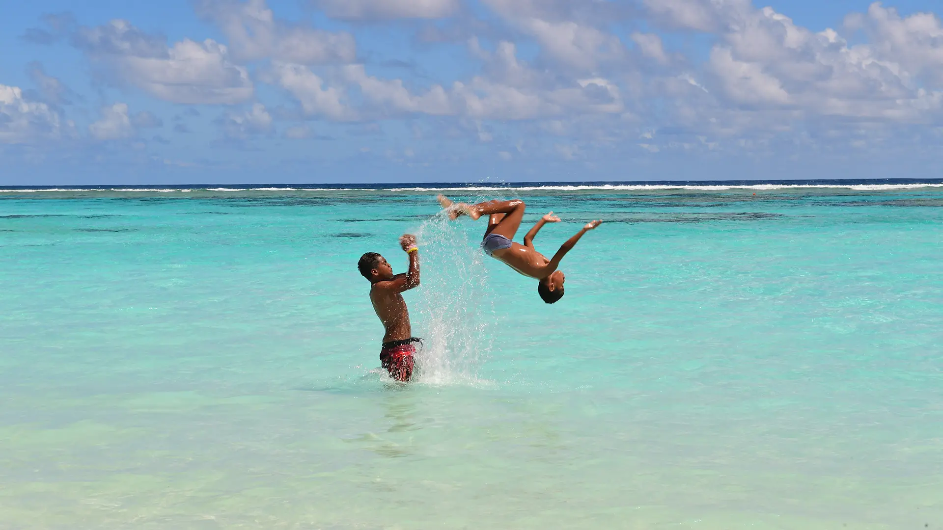
[[387, 260], [375, 252], [361, 256], [356, 267], [363, 277], [370, 280], [373, 310], [387, 330], [380, 350], [380, 363], [390, 377], [405, 383], [412, 377], [415, 362], [413, 342], [422, 340], [412, 337], [409, 311], [400, 293], [419, 285], [419, 247], [416, 246], [416, 237], [410, 234], [400, 237], [400, 246], [409, 256], [409, 271], [405, 274], [393, 274]]

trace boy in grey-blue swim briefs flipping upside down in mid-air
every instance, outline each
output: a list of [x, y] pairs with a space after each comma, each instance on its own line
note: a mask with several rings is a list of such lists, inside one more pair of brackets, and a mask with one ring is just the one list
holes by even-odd
[[504, 261], [518, 273], [538, 279], [537, 291], [540, 298], [547, 304], [553, 304], [563, 298], [563, 282], [566, 276], [562, 271], [556, 270], [560, 265], [560, 260], [572, 250], [573, 245], [583, 237], [583, 234], [603, 223], [602, 221], [588, 223], [575, 236], [560, 245], [560, 250], [556, 251], [554, 257], [547, 259], [534, 248], [534, 237], [544, 224], [560, 222], [560, 218], [556, 217], [554, 212], [543, 216], [524, 236], [524, 244], [520, 244], [512, 239], [521, 226], [521, 219], [524, 216], [524, 202], [521, 200], [488, 201], [469, 206], [465, 203], [453, 203], [445, 195], [439, 195], [438, 204], [448, 211], [452, 219], [459, 215], [467, 215], [472, 219], [488, 215], [488, 229], [485, 230], [485, 239], [481, 241], [485, 254]]

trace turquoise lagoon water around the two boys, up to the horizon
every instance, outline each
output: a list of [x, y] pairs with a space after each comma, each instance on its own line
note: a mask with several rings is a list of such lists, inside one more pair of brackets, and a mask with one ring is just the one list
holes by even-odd
[[0, 527], [943, 525], [943, 188], [453, 190], [604, 220], [555, 306], [435, 192], [3, 193]]

